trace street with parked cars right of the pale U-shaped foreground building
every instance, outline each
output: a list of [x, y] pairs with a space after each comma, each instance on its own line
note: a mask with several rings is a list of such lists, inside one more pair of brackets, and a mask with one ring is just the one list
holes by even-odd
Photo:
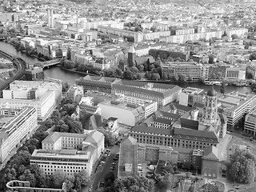
[[[93, 183], [93, 192], [96, 192], [98, 190], [98, 185], [100, 182], [104, 182], [104, 178], [106, 177], [106, 174], [110, 171], [110, 168], [112, 166], [112, 162], [114, 162], [113, 158], [115, 156], [115, 154], [119, 153], [120, 150], [120, 146], [113, 146], [112, 148], [110, 148], [111, 153], [110, 153], [110, 157], [106, 158], [106, 162], [104, 163], [104, 165], [102, 166], [102, 170], [97, 170], [95, 178], [94, 178], [94, 183]], [[117, 173], [117, 167], [115, 166], [115, 173]]]

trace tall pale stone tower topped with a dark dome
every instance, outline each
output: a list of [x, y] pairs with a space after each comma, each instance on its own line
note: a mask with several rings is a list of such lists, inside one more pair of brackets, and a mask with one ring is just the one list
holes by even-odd
[[202, 111], [202, 122], [212, 126], [218, 122], [217, 92], [214, 87], [207, 92], [206, 104]]

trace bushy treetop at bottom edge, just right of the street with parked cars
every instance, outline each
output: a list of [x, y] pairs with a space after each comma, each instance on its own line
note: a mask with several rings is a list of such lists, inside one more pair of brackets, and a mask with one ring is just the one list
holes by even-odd
[[153, 189], [153, 182], [144, 177], [125, 177], [117, 178], [114, 181], [113, 190], [117, 192], [132, 191], [132, 192], [150, 192]]

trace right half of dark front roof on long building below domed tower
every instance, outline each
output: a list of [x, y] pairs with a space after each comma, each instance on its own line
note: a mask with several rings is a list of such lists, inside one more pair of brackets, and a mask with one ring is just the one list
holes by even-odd
[[207, 142], [218, 142], [218, 137], [213, 131], [190, 130], [174, 128], [174, 138], [190, 138]]

